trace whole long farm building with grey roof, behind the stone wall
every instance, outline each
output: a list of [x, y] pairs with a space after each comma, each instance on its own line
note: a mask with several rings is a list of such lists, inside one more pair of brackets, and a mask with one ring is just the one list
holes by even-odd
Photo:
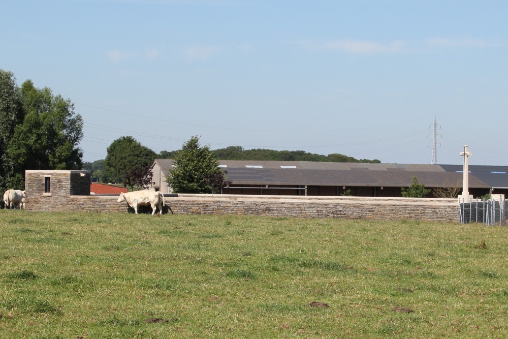
[[[227, 171], [224, 194], [401, 197], [412, 178], [428, 189], [462, 186], [462, 165], [370, 164], [302, 161], [219, 160]], [[151, 188], [171, 193], [171, 159], [156, 159]], [[469, 165], [469, 193], [508, 195], [508, 166]], [[432, 196], [432, 195], [429, 195]]]

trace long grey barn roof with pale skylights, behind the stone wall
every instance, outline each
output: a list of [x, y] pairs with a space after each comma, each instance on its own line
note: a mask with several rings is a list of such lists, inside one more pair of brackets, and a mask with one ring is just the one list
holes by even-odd
[[[165, 174], [173, 166], [170, 159], [156, 161]], [[418, 182], [425, 184], [426, 187], [462, 186], [460, 165], [255, 160], [219, 160], [219, 164], [228, 172], [227, 179], [235, 185], [408, 187], [412, 183], [412, 178], [416, 176]], [[495, 167], [496, 171], [490, 167]], [[492, 173], [508, 172], [508, 166], [469, 166], [469, 169], [470, 188], [508, 187], [506, 176], [497, 174], [495, 176]], [[495, 181], [494, 178], [499, 178], [499, 181]]]

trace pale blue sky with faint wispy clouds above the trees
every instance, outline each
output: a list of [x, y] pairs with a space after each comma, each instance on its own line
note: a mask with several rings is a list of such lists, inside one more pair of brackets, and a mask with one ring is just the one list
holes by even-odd
[[[508, 2], [0, 0], [0, 69], [71, 99], [83, 161], [193, 136], [508, 166]], [[436, 133], [434, 138], [434, 121]], [[434, 141], [435, 140], [435, 141]]]

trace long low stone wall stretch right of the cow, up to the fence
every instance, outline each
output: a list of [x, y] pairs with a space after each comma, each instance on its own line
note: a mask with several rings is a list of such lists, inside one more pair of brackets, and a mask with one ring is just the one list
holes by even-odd
[[176, 214], [458, 222], [456, 199], [183, 194], [166, 204]]

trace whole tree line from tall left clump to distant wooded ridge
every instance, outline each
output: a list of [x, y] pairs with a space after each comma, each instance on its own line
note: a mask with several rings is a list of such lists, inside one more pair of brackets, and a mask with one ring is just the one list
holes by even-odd
[[[24, 188], [25, 170], [90, 170], [92, 180], [142, 188], [151, 181], [156, 158], [173, 159], [182, 166], [172, 182], [180, 192], [205, 193], [224, 183], [217, 160], [279, 160], [323, 162], [374, 162], [357, 160], [339, 153], [328, 156], [305, 151], [244, 149], [230, 146], [211, 150], [192, 137], [175, 151], [156, 153], [132, 136], [114, 140], [107, 157], [84, 162], [78, 147], [83, 138], [83, 118], [69, 98], [53, 94], [49, 87], [38, 88], [31, 80], [18, 86], [12, 72], [0, 69], [0, 191]], [[203, 165], [203, 166], [201, 166]], [[193, 172], [189, 177], [183, 170]], [[197, 173], [197, 174], [196, 174]], [[187, 180], [187, 181], [185, 181]], [[198, 186], [193, 186], [197, 184]]]

